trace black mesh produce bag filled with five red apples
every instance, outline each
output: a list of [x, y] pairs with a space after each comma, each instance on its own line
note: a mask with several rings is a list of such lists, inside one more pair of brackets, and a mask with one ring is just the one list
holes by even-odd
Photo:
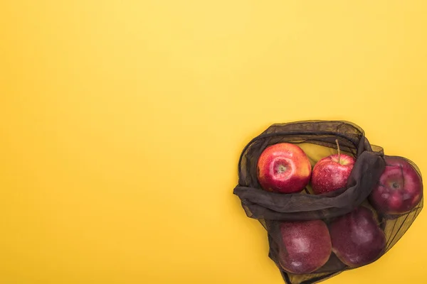
[[268, 231], [268, 256], [288, 284], [376, 261], [423, 207], [416, 165], [384, 155], [347, 121], [270, 126], [243, 149], [238, 175], [234, 194]]

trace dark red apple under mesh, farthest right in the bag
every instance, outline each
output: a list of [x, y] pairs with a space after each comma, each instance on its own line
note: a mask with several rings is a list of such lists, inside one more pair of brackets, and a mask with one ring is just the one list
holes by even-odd
[[421, 175], [405, 158], [384, 156], [384, 160], [386, 169], [369, 195], [369, 201], [378, 212], [385, 214], [411, 211], [423, 196]]

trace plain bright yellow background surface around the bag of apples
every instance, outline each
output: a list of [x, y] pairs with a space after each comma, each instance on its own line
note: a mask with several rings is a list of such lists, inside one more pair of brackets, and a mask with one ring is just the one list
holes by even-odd
[[[345, 119], [427, 175], [426, 3], [0, 1], [0, 283], [283, 283], [243, 146]], [[426, 216], [325, 283], [427, 283]]]

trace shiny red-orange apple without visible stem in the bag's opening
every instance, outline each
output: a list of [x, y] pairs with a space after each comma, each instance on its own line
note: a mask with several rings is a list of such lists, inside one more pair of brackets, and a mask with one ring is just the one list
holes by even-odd
[[268, 146], [258, 158], [258, 182], [271, 192], [300, 192], [310, 181], [311, 170], [307, 155], [292, 143]]

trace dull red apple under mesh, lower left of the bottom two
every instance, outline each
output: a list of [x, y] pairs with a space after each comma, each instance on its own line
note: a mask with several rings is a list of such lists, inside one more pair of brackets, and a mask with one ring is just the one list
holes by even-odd
[[285, 271], [305, 274], [317, 271], [327, 263], [332, 252], [330, 233], [325, 222], [283, 222], [279, 263]]

